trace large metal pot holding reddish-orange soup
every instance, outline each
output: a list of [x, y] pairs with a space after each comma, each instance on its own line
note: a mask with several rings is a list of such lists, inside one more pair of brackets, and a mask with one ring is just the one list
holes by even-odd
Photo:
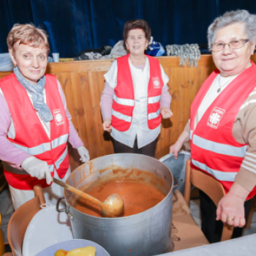
[[[162, 190], [165, 199], [140, 214], [101, 218], [78, 211], [75, 208], [78, 197], [66, 190], [66, 212], [71, 219], [75, 239], [94, 241], [103, 246], [111, 256], [149, 256], [170, 252], [173, 175], [162, 162], [139, 154], [107, 155], [75, 169], [67, 178], [67, 184], [79, 189], [99, 179], [104, 180], [105, 177], [121, 177], [122, 172], [118, 170], [123, 170], [127, 175], [135, 169], [145, 171], [146, 176], [150, 177], [154, 173], [161, 181], [154, 185]], [[154, 183], [150, 177], [148, 182]]]

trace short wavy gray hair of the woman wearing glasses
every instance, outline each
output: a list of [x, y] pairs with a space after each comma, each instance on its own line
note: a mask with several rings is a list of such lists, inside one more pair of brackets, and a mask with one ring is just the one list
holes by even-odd
[[256, 38], [256, 15], [249, 14], [246, 10], [225, 12], [224, 15], [216, 18], [208, 27], [208, 48], [211, 48], [211, 44], [214, 42], [215, 34], [218, 29], [225, 28], [225, 26], [235, 23], [244, 23], [244, 33], [251, 42]]

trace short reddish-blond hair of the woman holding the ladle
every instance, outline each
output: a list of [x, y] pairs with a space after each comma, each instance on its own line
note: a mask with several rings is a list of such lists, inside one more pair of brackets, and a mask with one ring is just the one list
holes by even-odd
[[38, 48], [43, 43], [49, 53], [47, 37], [44, 30], [36, 28], [33, 24], [15, 24], [7, 36], [8, 49], [15, 51], [16, 42], [19, 42], [19, 45], [31, 45], [34, 48]]

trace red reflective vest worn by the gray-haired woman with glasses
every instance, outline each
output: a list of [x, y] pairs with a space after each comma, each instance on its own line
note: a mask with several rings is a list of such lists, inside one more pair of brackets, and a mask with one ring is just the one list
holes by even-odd
[[[222, 91], [206, 110], [195, 127], [195, 116], [211, 83], [219, 74], [216, 69], [206, 79], [191, 105], [190, 141], [191, 166], [214, 176], [227, 193], [235, 181], [246, 153], [246, 144], [232, 135], [233, 125], [241, 105], [256, 87], [256, 66], [245, 69]], [[247, 199], [256, 194], [256, 187]]]

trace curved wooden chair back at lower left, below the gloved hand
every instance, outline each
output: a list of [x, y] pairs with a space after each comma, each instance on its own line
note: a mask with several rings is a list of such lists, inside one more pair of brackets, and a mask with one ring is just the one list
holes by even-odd
[[[45, 204], [45, 197], [42, 187], [34, 187], [35, 197], [20, 206], [12, 215], [8, 227], [7, 237], [13, 256], [22, 256], [23, 238], [29, 222], [40, 211], [42, 204]], [[9, 254], [8, 254], [9, 255]]]

